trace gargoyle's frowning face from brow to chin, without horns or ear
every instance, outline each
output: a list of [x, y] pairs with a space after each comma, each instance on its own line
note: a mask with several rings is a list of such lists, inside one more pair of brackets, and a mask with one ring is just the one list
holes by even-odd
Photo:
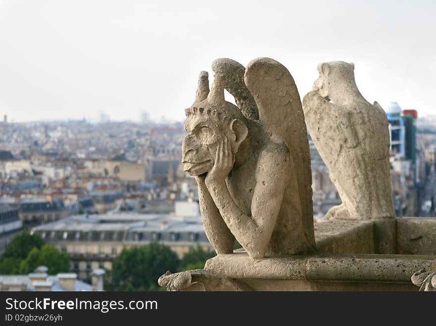
[[182, 142], [183, 170], [192, 176], [209, 172], [214, 166], [218, 144], [225, 132], [220, 124], [210, 119], [188, 117], [185, 129], [188, 133]]

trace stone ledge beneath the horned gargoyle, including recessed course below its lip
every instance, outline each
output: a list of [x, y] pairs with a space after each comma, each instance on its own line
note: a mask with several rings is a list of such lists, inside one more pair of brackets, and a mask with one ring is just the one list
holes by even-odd
[[414, 291], [410, 282], [414, 270], [435, 266], [434, 256], [360, 254], [253, 260], [238, 253], [210, 259], [205, 270], [255, 291]]

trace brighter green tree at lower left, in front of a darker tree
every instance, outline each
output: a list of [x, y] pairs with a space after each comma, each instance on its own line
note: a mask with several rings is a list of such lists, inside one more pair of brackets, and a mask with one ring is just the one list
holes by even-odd
[[59, 251], [53, 245], [44, 245], [41, 249], [33, 248], [26, 259], [20, 263], [20, 274], [28, 274], [36, 267], [49, 267], [51, 275], [67, 272], [70, 269], [70, 258], [67, 253]]

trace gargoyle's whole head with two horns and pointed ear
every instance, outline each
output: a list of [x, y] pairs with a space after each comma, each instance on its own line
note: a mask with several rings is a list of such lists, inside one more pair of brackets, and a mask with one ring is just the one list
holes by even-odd
[[244, 116], [238, 107], [224, 100], [222, 75], [215, 75], [209, 91], [208, 73], [202, 71], [196, 100], [185, 112], [184, 128], [188, 134], [182, 142], [182, 163], [183, 170], [190, 175], [199, 176], [212, 169], [218, 144], [225, 137], [234, 154], [247, 137]]

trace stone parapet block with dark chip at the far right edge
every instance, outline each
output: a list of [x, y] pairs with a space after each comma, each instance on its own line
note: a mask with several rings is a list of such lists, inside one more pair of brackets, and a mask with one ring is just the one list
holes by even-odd
[[398, 254], [436, 255], [436, 218], [397, 218]]

